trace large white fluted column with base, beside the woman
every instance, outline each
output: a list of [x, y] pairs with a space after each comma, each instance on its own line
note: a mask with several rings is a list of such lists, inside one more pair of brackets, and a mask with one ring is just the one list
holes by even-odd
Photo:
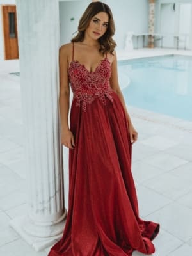
[[64, 204], [60, 143], [58, 0], [17, 0], [28, 212], [11, 226], [40, 250], [60, 239]]

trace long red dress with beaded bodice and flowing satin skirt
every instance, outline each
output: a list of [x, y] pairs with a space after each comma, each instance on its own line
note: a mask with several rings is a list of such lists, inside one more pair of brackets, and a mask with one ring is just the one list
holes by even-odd
[[[49, 256], [127, 256], [154, 253], [159, 224], [141, 220], [131, 173], [131, 142], [124, 107], [109, 85], [104, 58], [89, 72], [68, 68], [74, 93], [70, 129], [68, 214], [63, 237]], [[144, 173], [143, 173], [144, 175]]]

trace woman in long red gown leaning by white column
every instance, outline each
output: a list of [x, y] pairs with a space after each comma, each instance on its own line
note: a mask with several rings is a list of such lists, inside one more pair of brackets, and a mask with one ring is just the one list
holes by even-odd
[[[138, 137], [118, 85], [113, 16], [91, 3], [60, 48], [61, 143], [69, 148], [68, 214], [49, 256], [154, 253], [159, 224], [138, 216], [131, 147]], [[73, 91], [68, 125], [69, 83]]]

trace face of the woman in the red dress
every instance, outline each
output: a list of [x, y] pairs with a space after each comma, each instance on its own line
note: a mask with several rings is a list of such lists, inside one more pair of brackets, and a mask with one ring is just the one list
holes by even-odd
[[88, 28], [85, 31], [87, 36], [98, 40], [108, 29], [109, 16], [106, 12], [99, 12], [92, 17]]

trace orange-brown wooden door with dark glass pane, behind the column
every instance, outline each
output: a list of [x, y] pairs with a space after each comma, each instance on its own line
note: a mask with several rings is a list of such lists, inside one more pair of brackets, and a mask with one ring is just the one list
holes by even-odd
[[17, 15], [15, 5], [3, 5], [4, 59], [18, 59]]

